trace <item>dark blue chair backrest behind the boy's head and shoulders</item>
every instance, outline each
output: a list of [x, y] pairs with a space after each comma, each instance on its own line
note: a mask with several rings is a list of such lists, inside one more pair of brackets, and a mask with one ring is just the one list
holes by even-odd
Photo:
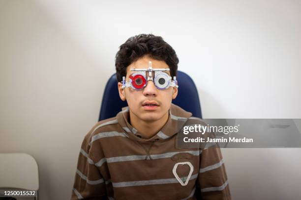
[[[194, 117], [202, 118], [199, 95], [193, 80], [189, 75], [181, 71], [178, 71], [177, 80], [179, 92], [177, 98], [172, 102], [191, 112]], [[117, 77], [114, 74], [109, 78], [105, 87], [98, 121], [115, 117], [122, 107], [127, 106], [126, 101], [120, 100], [117, 84]]]

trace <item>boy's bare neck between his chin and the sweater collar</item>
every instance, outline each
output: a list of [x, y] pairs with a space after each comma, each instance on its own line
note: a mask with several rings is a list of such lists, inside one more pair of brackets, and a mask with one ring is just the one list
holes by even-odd
[[143, 121], [130, 111], [131, 125], [136, 128], [144, 137], [151, 138], [162, 129], [169, 117], [167, 112], [161, 119], [156, 121]]

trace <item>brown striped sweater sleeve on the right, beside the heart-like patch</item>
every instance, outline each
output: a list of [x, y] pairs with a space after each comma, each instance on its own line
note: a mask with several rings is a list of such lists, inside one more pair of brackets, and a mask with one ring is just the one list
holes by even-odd
[[204, 148], [200, 156], [197, 193], [203, 200], [231, 200], [226, 169], [218, 145]]

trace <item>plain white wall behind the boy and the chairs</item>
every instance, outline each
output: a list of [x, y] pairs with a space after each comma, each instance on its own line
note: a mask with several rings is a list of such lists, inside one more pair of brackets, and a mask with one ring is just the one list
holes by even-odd
[[[40, 199], [71, 195], [118, 47], [161, 35], [204, 118], [301, 118], [301, 2], [0, 0], [0, 152], [39, 165]], [[301, 149], [223, 150], [234, 200], [301, 199]]]

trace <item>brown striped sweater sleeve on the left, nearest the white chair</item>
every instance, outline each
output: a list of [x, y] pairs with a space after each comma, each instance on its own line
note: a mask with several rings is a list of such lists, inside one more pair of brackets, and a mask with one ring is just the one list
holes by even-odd
[[105, 180], [95, 165], [89, 145], [88, 135], [85, 137], [78, 157], [75, 181], [71, 200], [107, 200]]

